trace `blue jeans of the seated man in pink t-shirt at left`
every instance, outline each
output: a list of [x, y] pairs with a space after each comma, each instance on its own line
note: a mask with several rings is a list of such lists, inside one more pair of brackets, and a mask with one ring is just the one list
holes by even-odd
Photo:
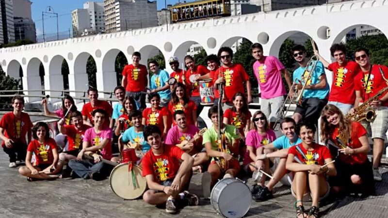
[[101, 171], [104, 163], [98, 162], [94, 164], [90, 160], [70, 160], [68, 165], [78, 176], [87, 179], [90, 174]]

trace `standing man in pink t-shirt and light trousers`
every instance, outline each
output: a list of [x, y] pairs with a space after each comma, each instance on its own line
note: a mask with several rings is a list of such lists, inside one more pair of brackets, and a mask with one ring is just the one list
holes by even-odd
[[260, 109], [268, 117], [270, 126], [275, 124], [276, 117], [280, 116], [284, 103], [283, 95], [286, 94], [282, 74], [286, 79], [291, 94], [291, 76], [283, 63], [275, 56], [264, 56], [263, 47], [259, 43], [251, 46], [252, 56], [256, 59], [253, 64], [253, 72], [258, 79], [261, 93]]

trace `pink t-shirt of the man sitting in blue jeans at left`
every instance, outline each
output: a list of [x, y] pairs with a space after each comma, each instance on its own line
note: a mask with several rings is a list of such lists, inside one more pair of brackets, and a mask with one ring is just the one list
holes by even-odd
[[108, 144], [102, 150], [99, 150], [100, 155], [107, 160], [111, 160], [112, 158], [112, 129], [107, 127], [101, 130], [100, 133], [96, 133], [94, 128], [89, 128], [85, 131], [83, 136], [83, 141], [89, 142], [90, 146], [99, 145], [102, 140], [108, 139]]

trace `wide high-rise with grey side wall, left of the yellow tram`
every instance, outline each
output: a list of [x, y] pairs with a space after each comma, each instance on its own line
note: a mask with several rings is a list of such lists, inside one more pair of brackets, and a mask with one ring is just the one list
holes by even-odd
[[158, 25], [156, 1], [104, 0], [105, 31], [116, 32]]

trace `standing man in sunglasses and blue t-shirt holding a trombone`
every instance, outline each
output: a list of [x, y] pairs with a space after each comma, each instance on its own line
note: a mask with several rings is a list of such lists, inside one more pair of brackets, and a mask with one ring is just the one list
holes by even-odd
[[[300, 120], [308, 120], [314, 124], [318, 123], [323, 107], [327, 104], [329, 94], [329, 84], [327, 84], [326, 75], [322, 62], [317, 61], [316, 67], [308, 78], [312, 66], [307, 66], [309, 61], [306, 58], [306, 48], [296, 45], [292, 48], [292, 56], [299, 64], [299, 67], [293, 72], [293, 81], [297, 82], [299, 92], [306, 84], [302, 95], [302, 101], [297, 102], [296, 109], [292, 118], [298, 123]], [[307, 69], [306, 69], [307, 68]]]

